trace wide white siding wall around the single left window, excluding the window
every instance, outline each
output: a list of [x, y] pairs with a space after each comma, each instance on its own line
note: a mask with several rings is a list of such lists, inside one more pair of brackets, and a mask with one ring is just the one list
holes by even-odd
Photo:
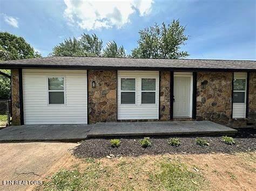
[[[48, 77], [64, 77], [64, 104], [49, 104]], [[24, 124], [86, 124], [86, 70], [23, 69]]]

